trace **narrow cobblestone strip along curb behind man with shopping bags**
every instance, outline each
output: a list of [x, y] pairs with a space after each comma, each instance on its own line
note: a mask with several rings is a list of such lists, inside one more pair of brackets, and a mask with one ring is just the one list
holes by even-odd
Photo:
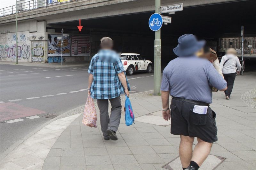
[[[136, 100], [136, 99], [146, 98], [146, 97], [151, 96], [151, 95], [153, 95], [153, 90], [146, 91], [146, 92], [141, 92], [141, 93], [130, 94], [129, 98], [132, 101], [132, 100]], [[125, 102], [125, 96], [122, 95], [121, 96], [121, 103], [124, 104], [124, 102]], [[97, 101], [96, 100], [95, 100], [94, 104], [95, 104], [95, 108], [97, 109], [98, 105], [97, 105]], [[84, 112], [84, 106], [82, 106], [82, 107], [80, 107], [80, 108], [78, 108], [76, 110], [69, 111], [63, 117], [68, 117], [68, 116], [71, 116], [71, 115], [81, 114], [83, 112]]]

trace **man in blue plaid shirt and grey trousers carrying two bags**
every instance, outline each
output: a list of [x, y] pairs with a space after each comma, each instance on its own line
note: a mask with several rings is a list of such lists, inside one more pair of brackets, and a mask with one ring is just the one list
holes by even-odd
[[[112, 50], [113, 41], [109, 37], [100, 40], [100, 51], [92, 57], [88, 70], [88, 94], [97, 99], [100, 109], [100, 125], [105, 140], [117, 140], [116, 131], [121, 118], [121, 98], [129, 96], [130, 85], [119, 55]], [[111, 115], [108, 116], [108, 100]]]

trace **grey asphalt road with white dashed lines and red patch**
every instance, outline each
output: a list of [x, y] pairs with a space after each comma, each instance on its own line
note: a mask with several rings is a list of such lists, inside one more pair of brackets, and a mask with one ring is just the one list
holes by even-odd
[[[87, 70], [88, 66], [0, 64], [0, 152], [51, 120], [42, 116], [60, 115], [83, 105], [87, 99]], [[137, 73], [128, 79], [134, 93], [153, 89], [152, 73]]]

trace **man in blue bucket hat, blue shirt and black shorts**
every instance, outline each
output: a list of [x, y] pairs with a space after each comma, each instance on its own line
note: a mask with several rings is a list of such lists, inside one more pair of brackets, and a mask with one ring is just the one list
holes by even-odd
[[[171, 133], [180, 135], [182, 168], [197, 170], [209, 155], [212, 143], [217, 141], [216, 114], [209, 107], [212, 103], [211, 86], [224, 91], [227, 82], [211, 62], [198, 57], [203, 52], [204, 40], [185, 34], [178, 43], [173, 52], [179, 57], [170, 61], [163, 72], [163, 118], [171, 118]], [[197, 137], [198, 144], [192, 151], [194, 137]]]

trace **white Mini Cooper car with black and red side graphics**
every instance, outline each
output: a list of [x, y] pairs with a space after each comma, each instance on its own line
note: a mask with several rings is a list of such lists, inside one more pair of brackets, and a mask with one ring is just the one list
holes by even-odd
[[132, 75], [134, 72], [144, 71], [147, 73], [152, 72], [152, 62], [142, 59], [140, 54], [136, 53], [122, 53], [120, 56], [124, 65], [124, 70], [127, 75]]

